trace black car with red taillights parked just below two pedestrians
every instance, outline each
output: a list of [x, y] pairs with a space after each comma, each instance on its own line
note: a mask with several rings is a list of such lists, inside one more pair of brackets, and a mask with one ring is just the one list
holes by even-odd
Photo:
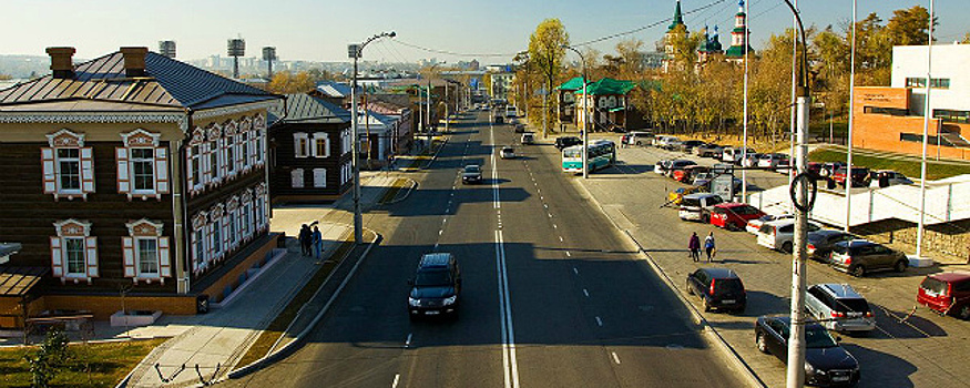
[[700, 268], [687, 275], [687, 294], [701, 297], [705, 312], [712, 309], [744, 313], [747, 293], [733, 269]]

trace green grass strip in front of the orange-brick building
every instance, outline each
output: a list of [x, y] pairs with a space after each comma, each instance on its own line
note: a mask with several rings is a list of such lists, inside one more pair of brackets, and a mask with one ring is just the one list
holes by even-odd
[[[808, 160], [813, 162], [845, 162], [846, 152], [841, 150], [821, 149], [811, 152]], [[920, 162], [910, 159], [895, 160], [860, 155], [852, 153], [852, 165], [866, 166], [872, 170], [895, 170], [903, 175], [918, 178]], [[930, 181], [945, 177], [970, 174], [970, 164], [933, 163], [927, 162], [927, 176]]]

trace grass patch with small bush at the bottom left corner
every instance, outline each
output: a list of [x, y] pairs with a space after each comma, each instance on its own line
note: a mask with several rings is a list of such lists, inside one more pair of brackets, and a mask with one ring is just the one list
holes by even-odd
[[[52, 387], [114, 387], [152, 349], [167, 338], [123, 343], [71, 344], [72, 358], [51, 381]], [[37, 347], [0, 349], [0, 386], [30, 387], [30, 365], [23, 359]]]

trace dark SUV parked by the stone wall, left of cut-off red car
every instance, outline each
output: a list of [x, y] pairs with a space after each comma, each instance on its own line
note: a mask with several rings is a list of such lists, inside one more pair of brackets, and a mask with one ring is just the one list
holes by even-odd
[[833, 268], [856, 277], [866, 276], [872, 270], [894, 269], [901, 273], [909, 266], [905, 253], [867, 239], [836, 243], [828, 257]]

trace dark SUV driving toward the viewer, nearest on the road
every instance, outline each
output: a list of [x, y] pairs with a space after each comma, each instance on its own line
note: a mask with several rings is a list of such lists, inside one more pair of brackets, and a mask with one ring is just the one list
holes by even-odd
[[420, 316], [458, 315], [461, 294], [461, 270], [450, 253], [421, 256], [415, 278], [408, 280], [408, 312], [411, 319]]

